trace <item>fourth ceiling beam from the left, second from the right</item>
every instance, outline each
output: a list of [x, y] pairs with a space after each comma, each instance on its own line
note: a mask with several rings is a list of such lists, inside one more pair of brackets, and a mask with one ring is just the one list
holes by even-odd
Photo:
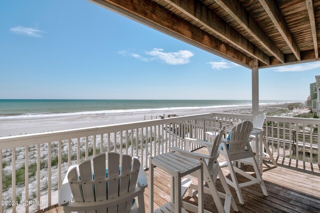
[[291, 49], [292, 53], [295, 55], [296, 59], [301, 60], [300, 50], [298, 49], [295, 39], [292, 33], [289, 30], [286, 21], [284, 20], [282, 13], [279, 7], [276, 5], [274, 0], [259, 0], [261, 5], [263, 6], [266, 13], [269, 15], [273, 24], [277, 28], [277, 30], [282, 35], [283, 39]]

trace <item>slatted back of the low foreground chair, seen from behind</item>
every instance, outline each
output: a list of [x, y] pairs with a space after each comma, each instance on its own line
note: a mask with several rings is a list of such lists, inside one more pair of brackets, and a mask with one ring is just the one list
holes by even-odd
[[[136, 187], [140, 162], [129, 155], [115, 152], [107, 153], [107, 167], [105, 153], [95, 156], [79, 164], [78, 171], [74, 167], [68, 174], [73, 200], [75, 202], [103, 201], [124, 195]], [[106, 172], [107, 169], [107, 172]], [[131, 210], [132, 199], [123, 201], [107, 210], [87, 211], [87, 213], [126, 213]]]

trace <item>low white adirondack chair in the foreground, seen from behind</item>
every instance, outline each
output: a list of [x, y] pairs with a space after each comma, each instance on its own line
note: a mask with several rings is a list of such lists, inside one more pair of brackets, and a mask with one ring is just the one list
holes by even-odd
[[[59, 206], [65, 212], [144, 213], [146, 175], [140, 162], [129, 155], [105, 153], [69, 167], [59, 191]], [[106, 170], [107, 169], [107, 170]], [[133, 198], [138, 207], [132, 208]], [[132, 208], [132, 209], [131, 209]]]

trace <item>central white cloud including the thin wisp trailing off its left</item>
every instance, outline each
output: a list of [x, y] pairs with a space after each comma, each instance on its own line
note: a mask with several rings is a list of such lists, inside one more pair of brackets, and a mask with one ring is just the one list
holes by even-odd
[[[163, 52], [163, 49], [158, 49], [158, 48], [153, 48], [151, 51], [145, 52], [147, 56], [142, 56], [136, 53], [130, 53], [129, 50], [120, 50], [118, 51], [118, 53], [124, 56], [131, 56], [145, 62], [158, 59], [171, 65], [189, 63], [190, 57], [193, 56], [193, 53], [189, 50], [179, 50], [177, 52]], [[152, 56], [152, 57], [149, 57], [149, 56]]]

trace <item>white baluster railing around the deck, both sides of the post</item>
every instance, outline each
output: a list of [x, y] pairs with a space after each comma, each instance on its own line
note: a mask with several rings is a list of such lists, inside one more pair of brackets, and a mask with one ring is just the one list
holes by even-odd
[[[206, 113], [2, 137], [0, 174], [3, 175], [0, 176], [0, 189], [4, 192], [0, 190], [0, 201], [36, 201], [37, 204], [44, 201], [44, 206], [32, 206], [30, 209], [25, 206], [23, 211], [44, 209], [56, 203], [56, 192], [70, 165], [79, 164], [102, 152], [115, 151], [138, 157], [147, 169], [148, 157], [166, 153], [172, 146], [184, 149], [184, 137], [203, 140], [205, 132], [217, 132], [222, 126], [226, 126], [226, 135], [233, 122], [250, 120], [251, 117], [242, 114]], [[302, 148], [305, 160], [308, 144], [311, 144], [311, 153], [320, 151], [319, 133], [308, 134], [308, 128], [312, 131], [319, 128], [320, 122], [317, 119], [267, 116], [266, 123], [273, 126], [267, 126], [265, 131], [268, 142], [272, 144], [273, 153], [291, 158], [293, 147]], [[282, 128], [283, 126], [285, 128]], [[283, 149], [283, 152], [278, 149], [281, 145], [283, 147], [283, 141], [289, 147], [289, 154], [286, 149]], [[317, 146], [317, 149], [314, 146]], [[277, 152], [274, 152], [274, 149], [277, 149]], [[319, 157], [317, 162], [320, 162]], [[22, 207], [12, 206], [12, 211], [15, 212], [16, 208]], [[0, 206], [0, 212], [2, 210], [4, 209]]]

